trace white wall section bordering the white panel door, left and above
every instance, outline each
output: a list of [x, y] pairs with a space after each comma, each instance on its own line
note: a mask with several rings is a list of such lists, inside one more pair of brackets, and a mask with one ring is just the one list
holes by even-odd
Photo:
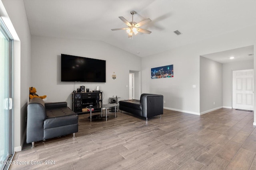
[[249, 60], [222, 64], [223, 107], [232, 108], [232, 70], [251, 69], [254, 68], [253, 63]]

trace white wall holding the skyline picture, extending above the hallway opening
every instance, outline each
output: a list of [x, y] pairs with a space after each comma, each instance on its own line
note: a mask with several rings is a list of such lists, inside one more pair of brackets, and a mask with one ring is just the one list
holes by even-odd
[[[200, 55], [255, 45], [255, 25], [142, 58], [142, 93], [163, 94], [164, 107], [200, 114]], [[183, 33], [180, 36], [186, 36]], [[174, 77], [151, 79], [150, 69], [174, 64]], [[192, 88], [192, 85], [196, 88]]]

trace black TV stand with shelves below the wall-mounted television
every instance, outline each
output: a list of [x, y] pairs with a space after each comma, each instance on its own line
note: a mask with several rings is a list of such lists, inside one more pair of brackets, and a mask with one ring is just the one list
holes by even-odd
[[90, 106], [94, 107], [92, 112], [101, 111], [102, 92], [78, 92], [72, 93], [72, 110], [78, 114], [90, 113]]

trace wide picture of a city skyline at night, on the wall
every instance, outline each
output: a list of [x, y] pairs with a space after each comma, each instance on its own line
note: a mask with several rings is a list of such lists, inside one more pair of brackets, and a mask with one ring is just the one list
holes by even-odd
[[151, 68], [151, 79], [173, 77], [173, 64]]

